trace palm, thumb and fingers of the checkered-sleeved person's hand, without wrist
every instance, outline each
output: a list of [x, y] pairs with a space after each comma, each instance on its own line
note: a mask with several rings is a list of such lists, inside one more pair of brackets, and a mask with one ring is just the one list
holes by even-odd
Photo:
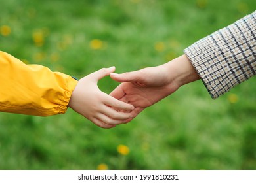
[[[135, 110], [132, 114], [135, 118], [144, 108], [153, 105], [179, 88], [175, 82], [169, 80], [164, 70], [164, 67], [158, 66], [123, 74], [112, 73], [110, 77], [122, 83], [110, 95], [133, 105]], [[127, 119], [126, 122], [133, 118]]]

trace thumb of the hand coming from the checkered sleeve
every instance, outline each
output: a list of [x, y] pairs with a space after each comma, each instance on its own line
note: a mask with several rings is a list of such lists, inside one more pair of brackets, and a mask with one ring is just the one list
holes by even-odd
[[111, 73], [110, 77], [117, 82], [134, 82], [139, 80], [140, 71], [127, 72], [122, 74]]

